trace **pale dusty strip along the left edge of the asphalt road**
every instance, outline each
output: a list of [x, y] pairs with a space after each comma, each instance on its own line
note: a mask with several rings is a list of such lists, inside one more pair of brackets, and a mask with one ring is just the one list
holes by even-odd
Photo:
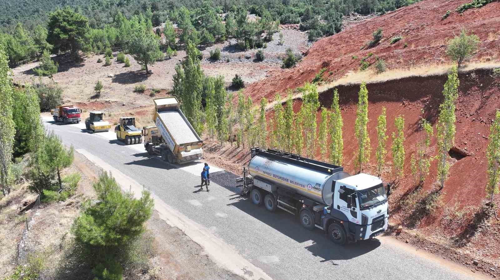
[[[130, 190], [136, 198], [140, 197], [143, 187], [134, 179], [87, 152], [85, 149], [76, 149], [76, 151], [105, 171], [111, 172], [123, 191]], [[154, 209], [158, 211], [160, 218], [171, 227], [176, 227], [184, 231], [185, 235], [201, 246], [210, 259], [218, 263], [222, 268], [243, 279], [271, 280], [265, 272], [245, 260], [232, 246], [229, 246], [222, 239], [213, 235], [209, 229], [171, 208], [153, 193], [151, 193], [151, 197], [154, 200]]]

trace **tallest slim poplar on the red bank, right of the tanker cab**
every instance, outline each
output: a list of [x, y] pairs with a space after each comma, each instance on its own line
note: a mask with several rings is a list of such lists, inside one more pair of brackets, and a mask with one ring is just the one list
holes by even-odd
[[437, 119], [437, 179], [439, 180], [442, 189], [444, 180], [448, 175], [449, 164], [448, 151], [455, 140], [455, 102], [458, 98], [458, 72], [456, 67], [451, 68], [448, 73], [448, 80], [444, 84], [442, 94], [444, 101], [439, 105], [439, 117]]

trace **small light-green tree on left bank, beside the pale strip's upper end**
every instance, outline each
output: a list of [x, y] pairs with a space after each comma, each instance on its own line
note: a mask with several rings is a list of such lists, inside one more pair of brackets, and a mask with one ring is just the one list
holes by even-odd
[[73, 146], [67, 150], [60, 138], [50, 133], [45, 138], [43, 143], [43, 152], [40, 154], [40, 165], [41, 168], [46, 173], [54, 173], [57, 174], [57, 181], [59, 183], [59, 189], [62, 189], [62, 181], [60, 172], [62, 169], [68, 167], [73, 162]]

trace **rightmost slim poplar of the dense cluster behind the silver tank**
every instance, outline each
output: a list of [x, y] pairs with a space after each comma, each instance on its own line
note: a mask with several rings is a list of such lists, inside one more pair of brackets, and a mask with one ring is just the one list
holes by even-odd
[[340, 105], [338, 104], [338, 91], [333, 92], [333, 102], [331, 104], [330, 113], [330, 163], [341, 165], [343, 159], [343, 138], [342, 138], [342, 114], [340, 113]]

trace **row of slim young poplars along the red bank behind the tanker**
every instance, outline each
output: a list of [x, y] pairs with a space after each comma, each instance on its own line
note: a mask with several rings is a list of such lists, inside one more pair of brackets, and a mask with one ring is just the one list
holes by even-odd
[[[455, 103], [458, 96], [458, 72], [453, 67], [448, 73], [448, 79], [444, 84], [443, 102], [439, 106], [439, 116], [436, 124], [437, 154], [432, 155], [429, 151], [430, 143], [434, 136], [432, 125], [423, 117], [419, 121], [419, 140], [415, 144], [415, 152], [411, 154], [410, 170], [416, 184], [425, 181], [430, 163], [437, 160], [437, 179], [440, 188], [444, 187], [446, 177], [449, 173], [449, 149], [454, 143], [455, 137]], [[334, 90], [333, 101], [330, 110], [319, 108], [318, 93], [315, 84], [306, 83], [298, 88], [302, 93], [302, 105], [298, 112], [294, 113], [291, 93], [283, 102], [281, 96], [276, 94], [274, 98], [274, 116], [272, 122], [267, 124], [265, 110], [267, 100], [262, 98], [260, 106], [252, 108], [251, 99], [245, 98], [243, 93], [238, 92], [237, 114], [235, 122], [231, 127], [239, 127], [237, 131], [237, 144], [243, 147], [255, 145], [261, 147], [273, 147], [288, 152], [304, 154], [307, 157], [317, 157], [319, 151], [320, 160], [341, 165], [343, 161], [343, 121], [339, 107], [339, 95]], [[284, 104], [283, 104], [284, 103]], [[319, 120], [316, 113], [320, 111]], [[368, 91], [364, 83], [359, 89], [356, 119], [354, 123], [354, 134], [357, 140], [354, 163], [358, 171], [370, 160], [371, 145], [367, 130], [368, 119]], [[318, 124], [318, 125], [316, 125]], [[404, 175], [405, 149], [404, 149], [404, 116], [394, 119], [395, 131], [392, 133], [390, 152], [392, 157], [393, 181], [397, 184]], [[387, 168], [387, 122], [386, 109], [382, 108], [377, 118], [375, 127], [377, 145], [375, 148], [376, 172], [378, 176]], [[231, 130], [232, 131], [232, 130]], [[487, 150], [488, 159], [488, 184], [487, 193], [492, 200], [493, 195], [498, 193], [500, 183], [500, 111], [497, 111], [495, 120], [491, 125], [490, 142]], [[269, 142], [267, 142], [269, 140]], [[222, 140], [221, 140], [222, 141]], [[330, 143], [329, 146], [326, 143]]]

